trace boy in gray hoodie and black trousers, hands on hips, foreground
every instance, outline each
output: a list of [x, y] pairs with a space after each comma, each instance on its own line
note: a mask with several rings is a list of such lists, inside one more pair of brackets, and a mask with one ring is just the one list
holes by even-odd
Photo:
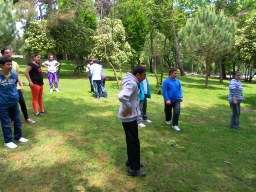
[[146, 69], [142, 66], [136, 66], [123, 79], [123, 88], [118, 94], [120, 100], [120, 108], [118, 117], [122, 121], [126, 136], [128, 166], [127, 175], [129, 176], [146, 176], [146, 172], [140, 170], [143, 166], [140, 163], [140, 140], [138, 138], [137, 118], [140, 115], [140, 98], [139, 98], [139, 82], [146, 79]]

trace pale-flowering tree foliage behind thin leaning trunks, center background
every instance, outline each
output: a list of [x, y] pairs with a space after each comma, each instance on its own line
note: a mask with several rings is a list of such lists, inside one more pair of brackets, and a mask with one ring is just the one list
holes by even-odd
[[[131, 47], [126, 42], [125, 39], [125, 31], [122, 21], [119, 19], [115, 19], [114, 25], [111, 26], [110, 19], [103, 19], [102, 20], [102, 30], [103, 30], [103, 37], [104, 42], [106, 44], [106, 57], [112, 63], [117, 65], [116, 56], [112, 49], [111, 43], [112, 38], [114, 42], [114, 48], [116, 50], [116, 54], [120, 64], [126, 63], [129, 58], [132, 57]], [[102, 43], [102, 34], [99, 32], [98, 35], [94, 36], [94, 41], [96, 42], [95, 52], [94, 54], [96, 57], [104, 59], [104, 44]]]

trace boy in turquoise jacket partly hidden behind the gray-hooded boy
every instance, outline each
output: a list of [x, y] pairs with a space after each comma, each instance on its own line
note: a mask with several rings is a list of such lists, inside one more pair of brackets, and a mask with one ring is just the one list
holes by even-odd
[[[140, 66], [142, 66], [146, 69], [146, 64], [145, 63], [141, 63]], [[144, 122], [147, 122], [147, 123], [152, 123], [152, 121], [150, 121], [148, 119], [148, 116], [147, 116], [147, 98], [151, 98], [148, 79], [147, 78], [144, 79], [141, 83], [139, 83], [139, 85], [140, 85], [140, 89], [142, 91], [141, 93], [139, 93], [139, 96], [140, 96], [140, 113], [141, 114], [137, 118], [137, 123], [138, 123], [138, 126], [140, 126], [140, 127], [146, 127], [146, 125], [144, 125], [141, 121], [144, 121]]]

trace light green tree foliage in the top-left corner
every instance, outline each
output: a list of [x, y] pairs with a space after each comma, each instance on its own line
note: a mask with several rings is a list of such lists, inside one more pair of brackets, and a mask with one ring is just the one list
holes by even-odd
[[12, 13], [12, 1], [0, 0], [0, 47], [12, 45], [16, 36], [15, 22], [16, 18]]

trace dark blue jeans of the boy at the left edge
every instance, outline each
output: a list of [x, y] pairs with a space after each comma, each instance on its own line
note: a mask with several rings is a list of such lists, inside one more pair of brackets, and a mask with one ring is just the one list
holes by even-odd
[[21, 138], [21, 120], [20, 120], [20, 110], [18, 102], [11, 107], [0, 106], [0, 121], [4, 134], [4, 142], [12, 142], [12, 129], [10, 128], [10, 114], [14, 118], [14, 140], [19, 140]]

